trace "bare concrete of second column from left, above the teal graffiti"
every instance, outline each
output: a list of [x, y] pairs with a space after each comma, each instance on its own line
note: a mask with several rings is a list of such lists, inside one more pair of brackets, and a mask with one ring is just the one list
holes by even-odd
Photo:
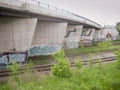
[[67, 23], [38, 20], [32, 45], [63, 44]]

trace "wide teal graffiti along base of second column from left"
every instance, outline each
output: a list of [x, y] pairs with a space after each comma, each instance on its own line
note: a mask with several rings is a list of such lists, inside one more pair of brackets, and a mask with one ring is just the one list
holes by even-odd
[[28, 56], [51, 55], [62, 49], [62, 45], [43, 45], [29, 49]]

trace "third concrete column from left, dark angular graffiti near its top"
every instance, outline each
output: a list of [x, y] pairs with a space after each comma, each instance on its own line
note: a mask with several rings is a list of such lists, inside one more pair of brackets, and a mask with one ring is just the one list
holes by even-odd
[[68, 25], [65, 36], [65, 48], [78, 48], [80, 44], [80, 37], [82, 32], [81, 25]]

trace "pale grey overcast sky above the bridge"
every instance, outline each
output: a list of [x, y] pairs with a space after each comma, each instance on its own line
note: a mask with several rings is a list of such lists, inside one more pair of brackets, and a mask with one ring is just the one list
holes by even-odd
[[120, 0], [40, 0], [91, 19], [102, 26], [120, 21]]

